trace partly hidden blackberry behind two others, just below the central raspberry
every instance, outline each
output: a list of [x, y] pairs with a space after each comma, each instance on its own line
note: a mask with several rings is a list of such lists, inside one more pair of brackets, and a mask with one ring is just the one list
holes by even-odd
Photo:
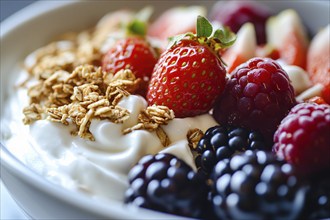
[[198, 142], [195, 163], [199, 173], [209, 176], [214, 165], [235, 152], [245, 150], [271, 150], [261, 133], [238, 127], [214, 126]]

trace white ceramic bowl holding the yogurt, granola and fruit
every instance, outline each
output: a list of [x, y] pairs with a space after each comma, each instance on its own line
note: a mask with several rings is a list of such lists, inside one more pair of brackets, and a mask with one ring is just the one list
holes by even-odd
[[[214, 1], [40, 1], [1, 23], [1, 117], [17, 72], [18, 62], [54, 36], [79, 31], [96, 24], [104, 14], [121, 8], [141, 9], [155, 6], [155, 14], [175, 5], [203, 4]], [[327, 1], [261, 1], [274, 12], [286, 8], [298, 11], [311, 33], [329, 23]], [[1, 132], [3, 134], [1, 127]], [[3, 139], [3, 135], [1, 135]], [[21, 146], [22, 148], [24, 146]], [[116, 201], [107, 203], [61, 188], [36, 174], [11, 154], [1, 140], [1, 179], [11, 195], [33, 219], [169, 219], [164, 213], [127, 207]]]

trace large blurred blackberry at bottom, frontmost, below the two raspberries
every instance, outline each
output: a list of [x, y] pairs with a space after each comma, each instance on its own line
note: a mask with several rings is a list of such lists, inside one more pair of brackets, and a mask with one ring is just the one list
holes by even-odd
[[221, 219], [295, 219], [307, 188], [292, 165], [265, 151], [245, 151], [219, 161], [210, 194]]

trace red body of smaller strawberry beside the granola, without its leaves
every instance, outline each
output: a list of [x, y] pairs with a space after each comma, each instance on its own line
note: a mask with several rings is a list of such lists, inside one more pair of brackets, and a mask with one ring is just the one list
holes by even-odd
[[129, 37], [109, 49], [103, 57], [102, 68], [113, 74], [121, 69], [131, 69], [143, 80], [138, 93], [144, 96], [157, 59], [156, 51], [144, 38]]

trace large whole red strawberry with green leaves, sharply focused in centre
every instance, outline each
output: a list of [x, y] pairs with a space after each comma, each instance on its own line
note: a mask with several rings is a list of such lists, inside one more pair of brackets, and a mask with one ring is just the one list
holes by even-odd
[[209, 111], [226, 83], [226, 70], [218, 50], [230, 46], [236, 37], [228, 29], [216, 30], [197, 18], [197, 34], [183, 34], [160, 57], [153, 71], [147, 100], [165, 105], [176, 117], [190, 117]]

